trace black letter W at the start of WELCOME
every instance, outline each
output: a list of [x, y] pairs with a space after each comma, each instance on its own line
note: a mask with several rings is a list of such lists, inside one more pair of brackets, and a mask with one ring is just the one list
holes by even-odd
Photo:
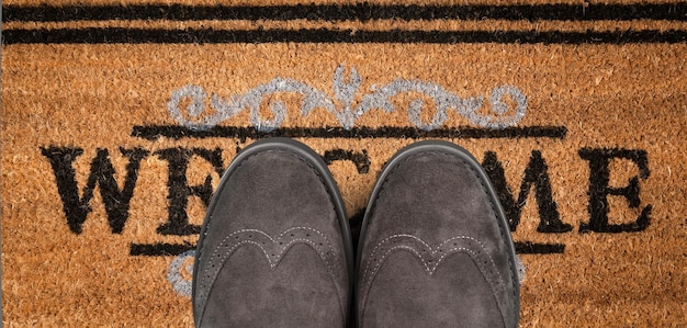
[[120, 148], [120, 151], [128, 158], [124, 188], [120, 190], [117, 186], [108, 149], [98, 149], [98, 155], [91, 161], [91, 171], [86, 186], [83, 186], [82, 195], [79, 196], [74, 161], [83, 154], [83, 149], [68, 147], [41, 148], [41, 152], [48, 158], [53, 167], [55, 180], [57, 181], [57, 192], [61, 197], [67, 224], [72, 233], [81, 234], [81, 226], [86, 220], [86, 216], [92, 211], [90, 202], [93, 197], [93, 190], [95, 184], [99, 184], [110, 228], [113, 234], [122, 234], [124, 224], [128, 218], [129, 201], [134, 194], [140, 160], [148, 155], [148, 151], [140, 148]]

